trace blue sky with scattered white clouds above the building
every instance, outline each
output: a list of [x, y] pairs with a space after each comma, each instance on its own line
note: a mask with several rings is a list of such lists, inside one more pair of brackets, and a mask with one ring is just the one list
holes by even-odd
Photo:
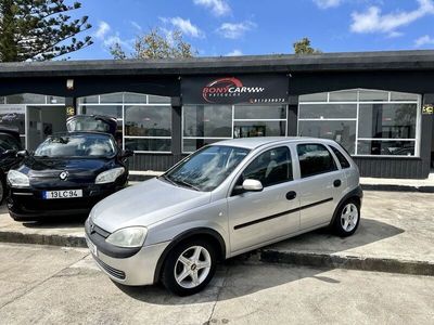
[[434, 48], [434, 0], [81, 0], [94, 44], [73, 60], [132, 51], [151, 27], [175, 28], [200, 56], [292, 53], [309, 37], [323, 52]]

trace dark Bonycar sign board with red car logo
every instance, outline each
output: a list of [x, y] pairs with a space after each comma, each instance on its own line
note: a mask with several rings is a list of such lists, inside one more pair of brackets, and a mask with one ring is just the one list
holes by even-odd
[[181, 80], [183, 104], [286, 104], [285, 75], [192, 76]]

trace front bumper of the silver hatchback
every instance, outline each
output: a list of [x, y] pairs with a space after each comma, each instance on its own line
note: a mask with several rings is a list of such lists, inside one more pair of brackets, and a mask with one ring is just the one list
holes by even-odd
[[[86, 234], [86, 243], [88, 246], [94, 245], [88, 234]], [[152, 285], [158, 260], [168, 245], [169, 242], [144, 246], [128, 258], [110, 257], [95, 246], [97, 255], [92, 252], [92, 257], [100, 269], [117, 283], [129, 286]]]

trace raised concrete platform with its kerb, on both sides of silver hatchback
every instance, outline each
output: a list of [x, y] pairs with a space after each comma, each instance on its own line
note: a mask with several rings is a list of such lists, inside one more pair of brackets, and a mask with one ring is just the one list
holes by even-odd
[[[317, 231], [266, 247], [259, 251], [259, 258], [263, 261], [434, 275], [433, 211], [434, 194], [366, 191], [362, 222], [354, 236], [340, 238]], [[0, 208], [0, 242], [86, 245], [82, 220], [20, 223], [9, 217], [4, 206]], [[314, 257], [316, 259], [310, 261]]]

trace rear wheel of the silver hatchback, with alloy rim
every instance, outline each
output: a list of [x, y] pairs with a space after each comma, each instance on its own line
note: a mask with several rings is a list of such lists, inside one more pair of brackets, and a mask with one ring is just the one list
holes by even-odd
[[347, 237], [353, 235], [360, 224], [360, 204], [356, 199], [348, 199], [337, 208], [333, 222], [336, 235]]

